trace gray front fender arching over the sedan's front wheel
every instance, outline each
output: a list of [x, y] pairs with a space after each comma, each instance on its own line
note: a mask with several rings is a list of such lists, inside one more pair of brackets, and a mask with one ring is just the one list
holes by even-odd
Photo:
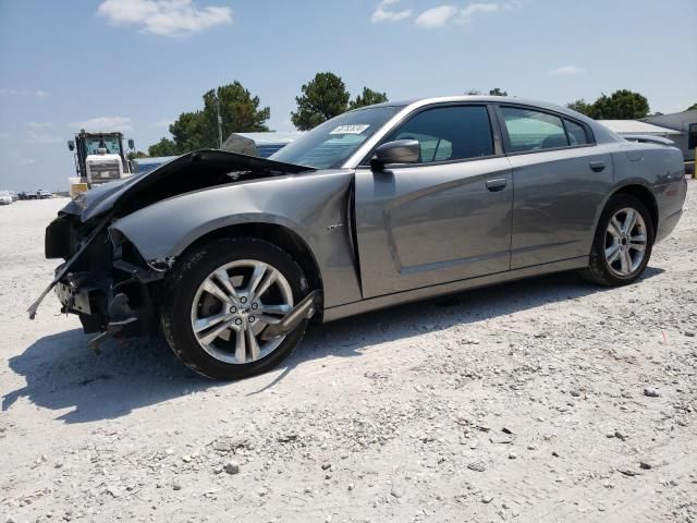
[[[325, 305], [360, 299], [346, 216], [353, 171], [239, 182], [175, 196], [111, 224], [146, 260], [179, 256], [198, 239], [241, 223], [282, 226], [310, 248]], [[343, 223], [346, 227], [331, 227]]]

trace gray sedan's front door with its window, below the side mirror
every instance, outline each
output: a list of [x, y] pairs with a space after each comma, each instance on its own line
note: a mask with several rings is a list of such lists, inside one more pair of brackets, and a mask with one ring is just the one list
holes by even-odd
[[382, 143], [417, 139], [419, 162], [356, 171], [364, 297], [510, 267], [513, 187], [486, 105], [430, 106]]

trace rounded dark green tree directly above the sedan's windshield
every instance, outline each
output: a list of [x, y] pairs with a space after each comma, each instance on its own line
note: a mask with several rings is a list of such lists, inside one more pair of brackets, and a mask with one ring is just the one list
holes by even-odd
[[346, 86], [333, 73], [317, 73], [301, 90], [302, 95], [295, 97], [297, 111], [291, 113], [293, 125], [301, 131], [316, 127], [348, 108]]

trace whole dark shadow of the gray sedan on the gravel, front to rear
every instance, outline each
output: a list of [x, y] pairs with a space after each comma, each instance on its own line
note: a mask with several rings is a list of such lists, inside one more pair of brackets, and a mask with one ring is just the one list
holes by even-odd
[[[661, 272], [648, 268], [643, 279]], [[355, 357], [362, 349], [379, 343], [609, 290], [588, 284], [574, 272], [562, 272], [311, 326], [284, 369], [250, 393], [273, 387], [304, 362], [330, 355]], [[117, 418], [142, 406], [228, 385], [188, 370], [160, 340], [110, 340], [100, 354], [87, 349], [88, 340], [89, 336], [74, 329], [44, 337], [11, 357], [10, 368], [24, 376], [26, 386], [5, 394], [2, 410], [26, 398], [52, 411], [70, 409], [58, 416], [65, 423], [85, 423]]]

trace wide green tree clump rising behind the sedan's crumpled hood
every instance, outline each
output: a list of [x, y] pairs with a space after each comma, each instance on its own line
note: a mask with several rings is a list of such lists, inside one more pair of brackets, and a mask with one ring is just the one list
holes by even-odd
[[204, 94], [201, 110], [182, 112], [170, 125], [172, 139], [162, 138], [150, 146], [148, 149], [150, 155], [183, 155], [189, 150], [218, 147], [218, 105], [220, 105], [223, 138], [230, 133], [269, 130], [266, 122], [271, 117], [271, 109], [259, 108], [259, 97], [252, 96], [249, 90], [235, 81]]

